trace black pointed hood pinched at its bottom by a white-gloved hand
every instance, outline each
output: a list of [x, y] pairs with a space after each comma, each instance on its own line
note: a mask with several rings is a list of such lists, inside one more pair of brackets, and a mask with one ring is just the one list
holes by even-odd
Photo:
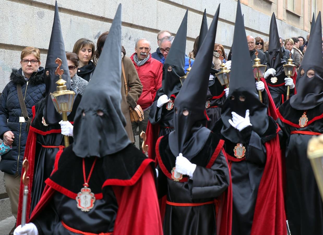
[[[182, 153], [186, 158], [191, 159], [203, 148], [210, 134], [210, 130], [203, 127], [203, 122], [206, 119], [205, 101], [219, 9], [220, 5], [203, 40], [196, 62], [176, 96], [174, 131], [169, 135], [169, 146], [175, 156]], [[184, 111], [188, 111], [188, 115], [183, 115]]]

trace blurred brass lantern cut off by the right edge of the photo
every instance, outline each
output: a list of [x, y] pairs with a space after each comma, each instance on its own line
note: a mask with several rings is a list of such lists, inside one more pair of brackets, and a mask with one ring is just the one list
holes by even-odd
[[323, 134], [308, 141], [307, 157], [311, 162], [316, 183], [323, 200]]

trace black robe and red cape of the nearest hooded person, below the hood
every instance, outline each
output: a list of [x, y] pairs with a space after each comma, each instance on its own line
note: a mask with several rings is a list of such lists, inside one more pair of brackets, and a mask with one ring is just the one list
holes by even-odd
[[[95, 158], [84, 158], [86, 177], [89, 176]], [[129, 218], [125, 218], [130, 215], [136, 217], [131, 219], [137, 220], [133, 222], [137, 229], [132, 230], [131, 234], [161, 234], [157, 192], [154, 187], [155, 170], [151, 159], [147, 159], [132, 144], [115, 154], [96, 158], [89, 179], [89, 188], [96, 200], [94, 207], [88, 212], [77, 208], [76, 202], [77, 193], [84, 184], [82, 161], [83, 158], [74, 154], [72, 146], [57, 155], [57, 168], [46, 180], [50, 189], [47, 188], [45, 192], [52, 191], [52, 196], [42, 197], [35, 209], [36, 214], [31, 218], [40, 235], [76, 234], [69, 228], [95, 234], [120, 234], [120, 230], [124, 234], [130, 234], [128, 229], [134, 228]], [[129, 189], [131, 186], [132, 189]], [[142, 203], [134, 199], [141, 199]], [[135, 209], [132, 210], [132, 207]]]

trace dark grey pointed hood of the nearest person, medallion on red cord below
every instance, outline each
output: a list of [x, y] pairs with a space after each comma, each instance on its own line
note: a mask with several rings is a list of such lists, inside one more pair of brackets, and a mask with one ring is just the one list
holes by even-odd
[[103, 157], [130, 144], [121, 111], [120, 48], [121, 4], [74, 118], [73, 151], [79, 157]]

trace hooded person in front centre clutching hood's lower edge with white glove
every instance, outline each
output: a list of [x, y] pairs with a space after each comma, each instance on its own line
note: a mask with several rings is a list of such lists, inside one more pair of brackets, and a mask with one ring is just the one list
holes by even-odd
[[176, 97], [174, 131], [156, 144], [158, 196], [167, 195], [165, 235], [215, 235], [220, 230], [214, 200], [228, 187], [229, 170], [223, 142], [205, 127], [204, 114], [219, 9]]

